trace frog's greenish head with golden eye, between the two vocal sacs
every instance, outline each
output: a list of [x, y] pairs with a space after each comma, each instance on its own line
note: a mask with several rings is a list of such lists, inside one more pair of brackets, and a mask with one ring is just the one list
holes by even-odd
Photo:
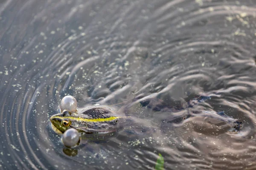
[[70, 112], [67, 110], [51, 116], [50, 121], [52, 123], [52, 129], [58, 134], [64, 133], [72, 124], [71, 120], [68, 118], [69, 116]]

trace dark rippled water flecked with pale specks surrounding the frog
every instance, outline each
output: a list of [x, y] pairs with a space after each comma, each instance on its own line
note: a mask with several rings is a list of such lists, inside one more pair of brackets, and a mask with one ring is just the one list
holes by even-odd
[[[0, 1], [0, 169], [256, 169], [256, 5], [253, 0]], [[88, 142], [73, 156], [50, 127], [62, 97], [79, 107], [137, 96], [189, 111], [225, 111], [239, 133], [215, 119], [134, 103], [129, 113], [154, 133]], [[75, 156], [76, 155], [76, 156]]]

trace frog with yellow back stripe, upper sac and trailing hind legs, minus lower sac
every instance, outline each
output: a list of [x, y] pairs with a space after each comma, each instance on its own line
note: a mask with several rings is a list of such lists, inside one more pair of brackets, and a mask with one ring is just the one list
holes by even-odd
[[[203, 102], [206, 99], [209, 99], [209, 97], [200, 96], [197, 99], [191, 100], [186, 108], [191, 108], [195, 103]], [[144, 100], [144, 102], [140, 100], [138, 101], [142, 106], [147, 106], [148, 108], [152, 108], [152, 110], [156, 111], [175, 112], [185, 109], [167, 107], [151, 99], [149, 101]], [[172, 118], [166, 122], [181, 122], [183, 119], [191, 116], [212, 117], [214, 119], [221, 120], [233, 126], [234, 131], [239, 131], [241, 125], [241, 122], [227, 116], [224, 112], [212, 113], [207, 111], [172, 116]], [[58, 134], [64, 133], [69, 128], [74, 128], [81, 134], [105, 135], [115, 133], [117, 130], [127, 125], [127, 122], [131, 125], [131, 121], [129, 120], [134, 120], [131, 118], [132, 117], [128, 116], [117, 116], [112, 109], [107, 107], [93, 106], [77, 110], [76, 99], [73, 96], [65, 96], [61, 100], [60, 113], [51, 116], [50, 121], [52, 123], [52, 129]], [[138, 118], [136, 118], [136, 120], [137, 123], [142, 123], [142, 120], [139, 120]], [[126, 124], [124, 122], [126, 122]]]

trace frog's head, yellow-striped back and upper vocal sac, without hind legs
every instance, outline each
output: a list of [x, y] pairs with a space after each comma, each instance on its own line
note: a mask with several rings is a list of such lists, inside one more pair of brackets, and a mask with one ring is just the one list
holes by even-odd
[[52, 129], [56, 133], [62, 134], [69, 128], [74, 128], [79, 133], [87, 134], [115, 133], [121, 127], [121, 122], [128, 118], [115, 115], [113, 110], [107, 107], [93, 106], [78, 110], [76, 103], [76, 99], [73, 96], [65, 96], [61, 100], [61, 113], [50, 117]]

